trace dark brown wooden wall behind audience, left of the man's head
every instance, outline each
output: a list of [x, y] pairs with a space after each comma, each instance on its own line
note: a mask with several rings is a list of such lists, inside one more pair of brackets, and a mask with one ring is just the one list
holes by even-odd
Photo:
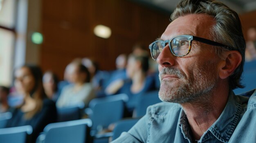
[[[61, 79], [65, 66], [76, 57], [92, 57], [101, 70], [115, 69], [119, 54], [131, 53], [137, 42], [153, 42], [170, 16], [129, 0], [43, 0], [42, 10], [45, 40], [40, 66]], [[109, 39], [93, 34], [97, 24], [111, 28]]]

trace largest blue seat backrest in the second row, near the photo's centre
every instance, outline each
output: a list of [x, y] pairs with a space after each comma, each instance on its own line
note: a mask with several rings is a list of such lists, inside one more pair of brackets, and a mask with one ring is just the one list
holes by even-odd
[[92, 110], [90, 119], [92, 119], [92, 130], [101, 130], [107, 128], [110, 123], [114, 123], [123, 118], [124, 102], [128, 100], [126, 94], [112, 95], [93, 99], [89, 103]]

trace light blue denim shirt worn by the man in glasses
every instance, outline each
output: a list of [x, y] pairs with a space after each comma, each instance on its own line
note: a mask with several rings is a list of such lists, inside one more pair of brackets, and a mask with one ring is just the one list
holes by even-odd
[[[256, 143], [256, 90], [245, 94], [251, 97], [229, 92], [220, 117], [198, 143]], [[146, 115], [112, 143], [193, 143], [191, 134], [180, 104], [162, 102], [149, 106]]]

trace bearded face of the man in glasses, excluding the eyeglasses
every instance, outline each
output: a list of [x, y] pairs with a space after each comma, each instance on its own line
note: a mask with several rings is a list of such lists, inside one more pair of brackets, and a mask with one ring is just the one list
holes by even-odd
[[[213, 18], [205, 14], [189, 14], [168, 25], [161, 36], [169, 40], [177, 35], [193, 35], [211, 40]], [[207, 99], [218, 81], [218, 57], [213, 46], [192, 42], [191, 52], [184, 57], [172, 55], [168, 45], [157, 58], [161, 82], [159, 98], [174, 103], [191, 103]]]

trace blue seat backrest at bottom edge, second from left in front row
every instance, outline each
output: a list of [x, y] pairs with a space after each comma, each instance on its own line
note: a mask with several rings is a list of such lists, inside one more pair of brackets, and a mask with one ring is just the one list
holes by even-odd
[[88, 143], [90, 140], [90, 119], [50, 123], [44, 128], [45, 143]]

